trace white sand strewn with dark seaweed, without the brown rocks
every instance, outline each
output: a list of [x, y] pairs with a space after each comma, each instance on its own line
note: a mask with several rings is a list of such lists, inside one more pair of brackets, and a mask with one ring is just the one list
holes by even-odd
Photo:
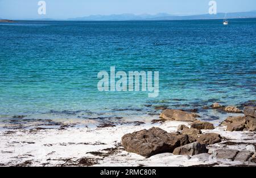
[[[242, 114], [242, 113], [241, 113]], [[240, 115], [241, 115], [240, 114]], [[237, 114], [230, 114], [237, 116]], [[159, 115], [156, 116], [159, 118]], [[154, 117], [152, 117], [154, 118]], [[22, 118], [21, 118], [22, 119]], [[199, 118], [200, 120], [202, 119]], [[160, 122], [159, 122], [160, 121]], [[225, 131], [225, 126], [215, 124], [213, 130], [202, 129], [203, 134], [217, 133], [221, 142], [207, 146], [209, 154], [194, 156], [162, 153], [144, 158], [127, 152], [122, 146], [122, 136], [143, 129], [158, 127], [174, 133], [179, 125], [191, 127], [191, 122], [133, 121], [113, 124], [90, 121], [88, 125], [47, 121], [46, 126], [35, 121], [30, 127], [16, 127], [0, 131], [2, 166], [255, 166], [248, 162], [230, 162], [210, 159], [214, 150], [246, 150], [246, 146], [256, 147], [255, 131]], [[212, 121], [209, 121], [212, 122]], [[220, 123], [221, 121], [218, 120]], [[34, 127], [32, 127], [34, 126]], [[52, 127], [53, 126], [53, 127]]]

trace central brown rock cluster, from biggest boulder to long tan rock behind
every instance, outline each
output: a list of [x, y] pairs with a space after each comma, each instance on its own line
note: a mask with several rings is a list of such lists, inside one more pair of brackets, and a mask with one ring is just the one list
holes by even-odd
[[126, 151], [146, 158], [162, 152], [175, 155], [196, 155], [208, 152], [206, 146], [221, 142], [215, 133], [202, 134], [201, 129], [214, 129], [212, 123], [196, 119], [198, 115], [185, 111], [167, 109], [160, 118], [170, 121], [191, 121], [191, 128], [180, 125], [177, 132], [167, 133], [158, 127], [123, 135], [122, 144]]

